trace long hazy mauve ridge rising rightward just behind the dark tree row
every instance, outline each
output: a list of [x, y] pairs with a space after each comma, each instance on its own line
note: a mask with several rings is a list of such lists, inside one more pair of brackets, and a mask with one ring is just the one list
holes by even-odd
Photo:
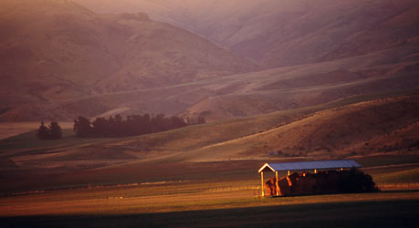
[[[180, 114], [207, 120], [266, 114], [363, 93], [417, 88], [418, 46], [394, 47], [319, 64], [279, 67], [162, 88], [89, 95], [48, 107], [23, 105], [0, 119], [74, 119], [110, 113]], [[106, 114], [108, 113], [108, 114]]]

